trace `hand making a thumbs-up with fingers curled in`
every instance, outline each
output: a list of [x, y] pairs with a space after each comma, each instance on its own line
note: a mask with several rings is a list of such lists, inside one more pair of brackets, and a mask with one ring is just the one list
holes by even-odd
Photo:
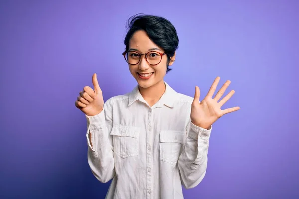
[[92, 83], [94, 89], [85, 86], [75, 102], [75, 106], [87, 116], [99, 114], [102, 112], [104, 106], [103, 94], [96, 73], [92, 76]]

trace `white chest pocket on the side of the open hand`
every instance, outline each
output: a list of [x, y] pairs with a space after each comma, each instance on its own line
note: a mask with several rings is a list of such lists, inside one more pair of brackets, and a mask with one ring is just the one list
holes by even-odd
[[184, 131], [160, 131], [160, 160], [177, 163], [184, 144]]

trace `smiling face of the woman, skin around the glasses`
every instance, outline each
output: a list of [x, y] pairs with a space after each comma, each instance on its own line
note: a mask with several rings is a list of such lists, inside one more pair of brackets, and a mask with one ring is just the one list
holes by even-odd
[[[159, 53], [164, 53], [165, 51], [157, 46], [153, 41], [151, 41], [147, 33], [143, 30], [136, 31], [132, 38], [129, 41], [129, 51], [136, 51], [138, 53], [147, 53], [149, 51], [156, 51]], [[136, 53], [129, 55], [135, 58]], [[154, 57], [159, 56], [155, 53], [148, 55], [148, 60], [155, 59]], [[171, 60], [174, 60], [171, 58]], [[169, 65], [172, 65], [173, 62], [170, 61]], [[132, 65], [129, 64], [129, 70], [132, 76], [136, 79], [138, 85], [142, 88], [149, 88], [158, 83], [164, 82], [164, 76], [167, 71], [167, 55], [162, 56], [162, 60], [157, 65], [150, 65], [145, 55], [141, 55], [140, 61], [138, 64]]]

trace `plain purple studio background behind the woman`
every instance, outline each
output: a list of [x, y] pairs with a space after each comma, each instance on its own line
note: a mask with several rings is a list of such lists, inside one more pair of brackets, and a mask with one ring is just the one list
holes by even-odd
[[[98, 74], [104, 100], [136, 81], [121, 53], [128, 17], [166, 17], [179, 35], [165, 81], [206, 95], [232, 81], [240, 106], [213, 128], [204, 180], [186, 199], [299, 198], [296, 0], [0, 2], [0, 198], [104, 198], [74, 102]], [[218, 87], [219, 88], [219, 87]]]

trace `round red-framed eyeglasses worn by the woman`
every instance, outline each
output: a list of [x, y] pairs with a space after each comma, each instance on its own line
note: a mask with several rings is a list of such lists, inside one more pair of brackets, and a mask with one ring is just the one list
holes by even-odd
[[161, 60], [162, 56], [165, 55], [165, 53], [160, 53], [156, 51], [149, 51], [147, 53], [138, 53], [136, 51], [125, 51], [123, 52], [123, 56], [128, 64], [136, 65], [140, 62], [141, 56], [145, 55], [147, 62], [150, 65], [158, 65]]

